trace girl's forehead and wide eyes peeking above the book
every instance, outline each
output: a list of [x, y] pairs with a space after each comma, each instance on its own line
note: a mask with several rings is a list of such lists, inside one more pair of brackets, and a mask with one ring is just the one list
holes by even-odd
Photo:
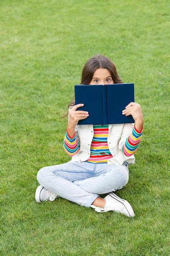
[[97, 68], [89, 85], [105, 85], [108, 83], [114, 83], [110, 71], [108, 71], [106, 68]]

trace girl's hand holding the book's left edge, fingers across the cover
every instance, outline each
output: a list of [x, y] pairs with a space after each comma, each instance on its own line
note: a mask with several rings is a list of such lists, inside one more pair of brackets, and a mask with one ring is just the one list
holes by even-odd
[[82, 110], [76, 111], [77, 108], [80, 108], [82, 106], [84, 106], [84, 104], [77, 104], [75, 106], [70, 107], [69, 121], [68, 121], [68, 125], [70, 127], [75, 127], [78, 124], [79, 120], [85, 119], [89, 116], [87, 111], [82, 111]]

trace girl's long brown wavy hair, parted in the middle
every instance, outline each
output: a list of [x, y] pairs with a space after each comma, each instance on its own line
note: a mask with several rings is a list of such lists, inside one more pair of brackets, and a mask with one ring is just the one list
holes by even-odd
[[[115, 64], [110, 60], [110, 58], [104, 55], [95, 55], [85, 63], [82, 70], [82, 79], [80, 85], [88, 85], [91, 82], [93, 74], [95, 70], [97, 70], [97, 68], [106, 68], [110, 72], [114, 83], [123, 83], [123, 81], [117, 74]], [[74, 105], [75, 96], [73, 96], [71, 103], [68, 105], [68, 108]], [[64, 117], [66, 117], [67, 115], [68, 113], [64, 115]]]

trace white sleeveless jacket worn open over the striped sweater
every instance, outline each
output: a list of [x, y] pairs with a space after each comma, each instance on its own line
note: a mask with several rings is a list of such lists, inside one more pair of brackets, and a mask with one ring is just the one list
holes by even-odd
[[[134, 124], [109, 124], [108, 125], [108, 148], [113, 155], [108, 159], [108, 164], [122, 165], [123, 162], [135, 163], [134, 155], [127, 157], [121, 149], [126, 138], [132, 132]], [[84, 124], [75, 127], [76, 138], [79, 142], [79, 151], [73, 155], [71, 162], [84, 162], [91, 154], [91, 142], [94, 135], [93, 125]]]

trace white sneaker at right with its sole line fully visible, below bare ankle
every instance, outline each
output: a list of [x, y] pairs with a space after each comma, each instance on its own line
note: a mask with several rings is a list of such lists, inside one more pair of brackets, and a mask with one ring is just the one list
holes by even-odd
[[91, 207], [94, 208], [97, 212], [116, 211], [128, 217], [135, 216], [135, 213], [130, 203], [124, 199], [119, 198], [113, 192], [106, 195], [104, 199], [106, 200], [104, 208], [96, 207], [93, 204], [91, 205]]

